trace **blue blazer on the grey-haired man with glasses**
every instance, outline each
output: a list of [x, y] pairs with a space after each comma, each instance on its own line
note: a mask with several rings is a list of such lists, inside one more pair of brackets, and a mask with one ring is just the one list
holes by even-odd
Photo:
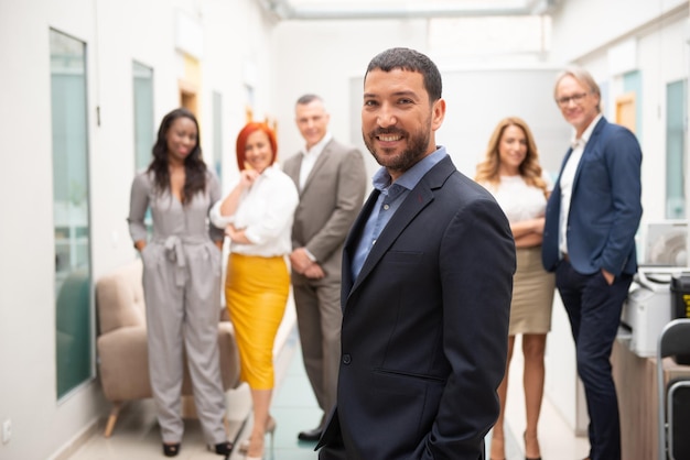
[[[547, 204], [541, 255], [543, 267], [550, 272], [560, 259], [560, 177], [571, 153], [572, 149]], [[570, 263], [576, 272], [593, 274], [605, 269], [618, 276], [637, 271], [640, 166], [642, 150], [635, 134], [602, 117], [585, 144], [572, 186], [567, 238]]]

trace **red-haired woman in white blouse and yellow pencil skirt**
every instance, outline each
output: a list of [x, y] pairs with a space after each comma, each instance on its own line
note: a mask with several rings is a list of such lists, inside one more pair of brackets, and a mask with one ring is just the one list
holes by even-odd
[[263, 456], [263, 437], [276, 427], [269, 415], [273, 390], [273, 341], [285, 310], [290, 274], [285, 255], [298, 206], [292, 179], [274, 165], [276, 134], [250, 122], [237, 136], [238, 183], [211, 210], [230, 239], [225, 298], [235, 327], [241, 379], [251, 388], [254, 428], [240, 446], [247, 459]]

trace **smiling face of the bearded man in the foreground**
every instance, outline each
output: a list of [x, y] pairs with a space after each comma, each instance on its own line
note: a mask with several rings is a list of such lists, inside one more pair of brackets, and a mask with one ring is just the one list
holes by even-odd
[[434, 132], [444, 116], [445, 101], [429, 100], [422, 74], [399, 68], [367, 73], [362, 134], [393, 180], [436, 150]]

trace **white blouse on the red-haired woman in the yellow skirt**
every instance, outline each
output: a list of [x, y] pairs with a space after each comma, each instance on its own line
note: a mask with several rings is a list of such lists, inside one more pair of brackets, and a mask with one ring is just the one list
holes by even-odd
[[[233, 184], [233, 188], [238, 183], [239, 179]], [[272, 258], [292, 251], [292, 221], [298, 202], [294, 182], [272, 165], [263, 171], [251, 187], [242, 191], [233, 216], [220, 215], [223, 199], [216, 201], [208, 216], [218, 228], [224, 229], [233, 223], [236, 229], [245, 230], [251, 244], [233, 242], [230, 252]]]

